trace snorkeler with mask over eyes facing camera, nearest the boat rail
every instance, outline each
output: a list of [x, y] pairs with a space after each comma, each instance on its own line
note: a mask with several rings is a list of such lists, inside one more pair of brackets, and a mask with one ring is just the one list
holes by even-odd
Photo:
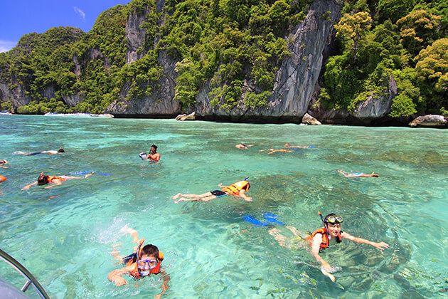
[[126, 266], [110, 272], [109, 275], [107, 275], [107, 279], [109, 279], [112, 283], [115, 283], [115, 285], [121, 286], [127, 285], [126, 279], [122, 276], [123, 274], [127, 274], [137, 280], [150, 276], [151, 274], [156, 275], [160, 273], [163, 279], [163, 283], [161, 285], [162, 291], [157, 294], [155, 298], [161, 298], [161, 295], [168, 290], [168, 283], [171, 279], [168, 273], [161, 268], [161, 263], [164, 261], [164, 253], [161, 253], [159, 248], [152, 244], [143, 246], [144, 239], [139, 239], [136, 230], [125, 226], [122, 231], [132, 236], [132, 241], [137, 243], [137, 247], [134, 248], [134, 253], [124, 258], [119, 256], [119, 253], [116, 250], [112, 251], [112, 256], [124, 263]]

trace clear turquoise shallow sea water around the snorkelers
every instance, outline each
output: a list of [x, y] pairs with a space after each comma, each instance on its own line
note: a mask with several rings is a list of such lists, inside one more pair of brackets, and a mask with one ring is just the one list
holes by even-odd
[[[3, 116], [0, 132], [0, 159], [9, 161], [9, 169], [0, 168], [8, 177], [0, 183], [0, 248], [53, 298], [159, 293], [159, 276], [128, 279], [121, 288], [107, 280], [119, 268], [113, 246], [132, 252], [131, 238], [120, 232], [125, 225], [165, 253], [168, 298], [431, 298], [448, 286], [446, 130]], [[240, 151], [239, 142], [255, 146]], [[284, 142], [316, 148], [259, 152]], [[152, 143], [159, 164], [138, 157]], [[12, 154], [59, 146], [65, 154]], [[380, 177], [346, 179], [337, 169]], [[112, 176], [21, 192], [41, 171], [84, 170]], [[170, 199], [247, 176], [251, 203]], [[317, 211], [335, 211], [344, 231], [390, 248], [332, 246], [322, 256], [342, 268], [334, 284], [305, 250], [282, 248], [267, 228], [242, 220], [263, 220], [267, 211], [302, 232], [320, 227]], [[23, 284], [4, 263], [0, 276]]]

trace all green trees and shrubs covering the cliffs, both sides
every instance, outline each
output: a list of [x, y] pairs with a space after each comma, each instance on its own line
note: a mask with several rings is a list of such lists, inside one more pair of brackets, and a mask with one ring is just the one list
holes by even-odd
[[[287, 36], [311, 2], [166, 0], [157, 11], [156, 1], [134, 0], [103, 12], [88, 33], [51, 28], [23, 36], [0, 53], [0, 83], [31, 100], [21, 113], [103, 112], [117, 98], [139, 100], [159, 88], [166, 55], [177, 61], [175, 98], [184, 110], [206, 84], [213, 107], [230, 110], [238, 100], [263, 107], [291, 54]], [[126, 25], [137, 17], [144, 41], [127, 63]], [[366, 96], [386, 94], [393, 78], [391, 117], [446, 113], [446, 1], [346, 0], [334, 27], [336, 53], [321, 74], [326, 108], [355, 110]], [[11, 99], [0, 105], [10, 109]]]

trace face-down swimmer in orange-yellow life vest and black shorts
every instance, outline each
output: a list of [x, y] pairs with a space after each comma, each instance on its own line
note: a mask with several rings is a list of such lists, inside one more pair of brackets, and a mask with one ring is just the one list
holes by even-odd
[[178, 193], [173, 197], [171, 197], [171, 199], [177, 199], [174, 202], [178, 204], [181, 201], [210, 201], [212, 199], [217, 199], [218, 197], [221, 196], [232, 195], [241, 197], [245, 201], [252, 201], [252, 197], [249, 197], [245, 194], [250, 188], [250, 184], [249, 182], [247, 182], [247, 179], [248, 178], [246, 177], [244, 180], [233, 183], [230, 186], [223, 186], [223, 184], [219, 183], [218, 186], [221, 187], [220, 190], [213, 190], [210, 192], [206, 192], [204, 194]]

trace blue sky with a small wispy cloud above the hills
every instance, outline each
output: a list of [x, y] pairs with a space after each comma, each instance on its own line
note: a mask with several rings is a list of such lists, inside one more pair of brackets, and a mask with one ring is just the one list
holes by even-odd
[[0, 0], [0, 52], [16, 46], [21, 36], [71, 26], [90, 31], [97, 17], [130, 0]]

